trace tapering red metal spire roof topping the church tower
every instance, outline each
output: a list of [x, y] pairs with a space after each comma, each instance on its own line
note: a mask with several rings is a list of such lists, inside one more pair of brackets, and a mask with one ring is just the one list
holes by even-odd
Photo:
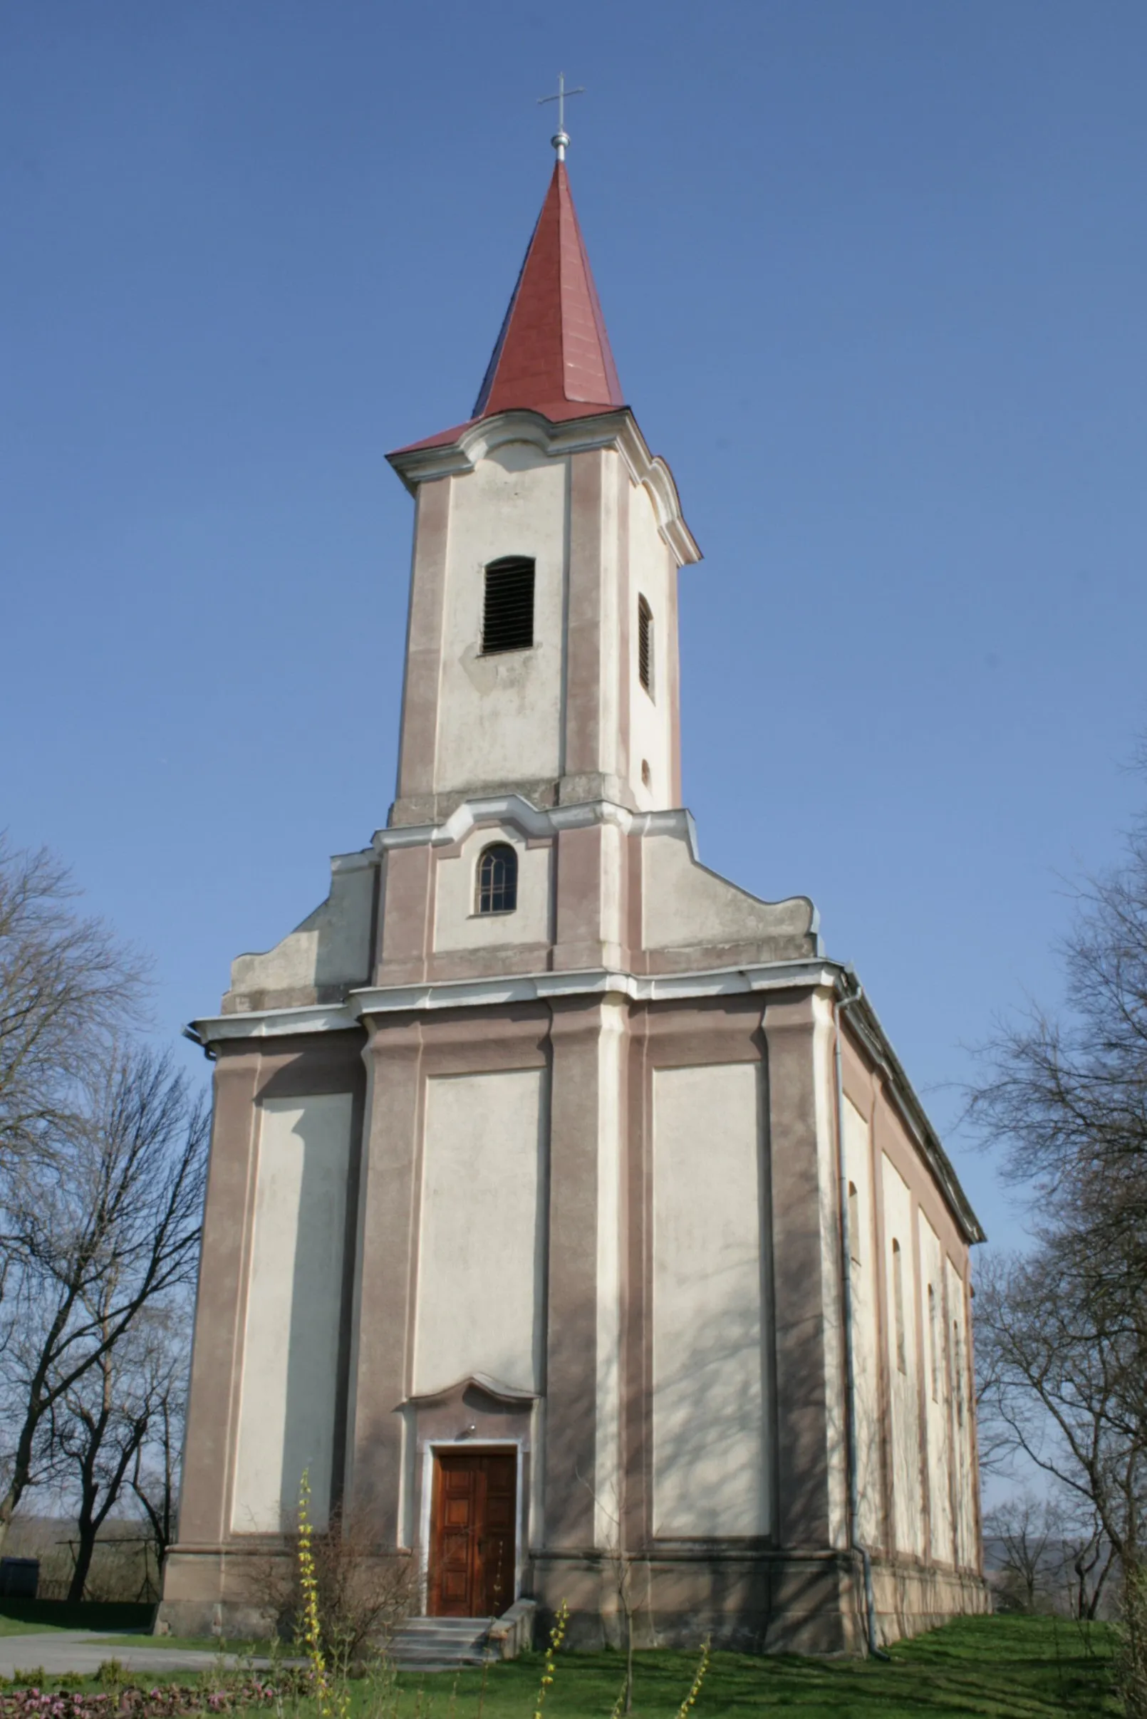
[[475, 418], [550, 419], [624, 406], [564, 162], [554, 177], [487, 368]]

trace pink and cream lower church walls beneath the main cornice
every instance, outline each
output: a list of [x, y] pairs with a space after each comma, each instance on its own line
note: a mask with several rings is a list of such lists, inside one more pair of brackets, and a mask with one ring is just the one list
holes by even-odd
[[[425, 1569], [432, 1453], [473, 1437], [519, 1453], [518, 1580], [580, 1597], [581, 1640], [612, 1628], [621, 1523], [659, 1638], [705, 1616], [745, 1647], [856, 1647], [831, 1021], [827, 992], [585, 997], [222, 1047], [172, 1626], [249, 1607], [244, 1566], [282, 1544], [303, 1466], [320, 1520], [346, 1497]], [[970, 1404], [949, 1468], [925, 1408], [929, 1485], [905, 1478], [930, 1377], [913, 1286], [942, 1248], [948, 1318], [966, 1245], [874, 1069], [855, 1047], [846, 1066], [872, 1315], [862, 1513], [896, 1635], [917, 1604], [980, 1594]], [[899, 1411], [892, 1229], [917, 1260]], [[965, 1513], [954, 1547], [937, 1477]]]

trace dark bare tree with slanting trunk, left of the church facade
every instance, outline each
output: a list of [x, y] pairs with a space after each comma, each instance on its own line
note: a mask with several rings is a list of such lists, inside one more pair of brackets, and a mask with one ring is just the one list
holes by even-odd
[[0, 1544], [29, 1485], [58, 1453], [81, 1380], [144, 1308], [196, 1272], [208, 1117], [167, 1055], [117, 1050], [53, 1121], [50, 1152], [9, 1190], [15, 1288], [0, 1355], [7, 1410]]

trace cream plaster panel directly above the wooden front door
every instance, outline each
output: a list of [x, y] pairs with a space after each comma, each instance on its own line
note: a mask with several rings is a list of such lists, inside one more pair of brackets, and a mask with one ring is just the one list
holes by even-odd
[[542, 1386], [542, 1069], [426, 1081], [414, 1396]]

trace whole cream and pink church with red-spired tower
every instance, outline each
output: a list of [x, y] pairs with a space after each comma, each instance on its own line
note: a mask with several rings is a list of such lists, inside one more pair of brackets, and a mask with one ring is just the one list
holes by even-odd
[[700, 550], [554, 143], [469, 419], [389, 456], [385, 829], [191, 1030], [215, 1112], [160, 1619], [258, 1628], [306, 1470], [425, 1618], [566, 1602], [600, 1645], [623, 1559], [640, 1643], [863, 1652], [987, 1609], [984, 1238], [812, 901], [700, 860]]

